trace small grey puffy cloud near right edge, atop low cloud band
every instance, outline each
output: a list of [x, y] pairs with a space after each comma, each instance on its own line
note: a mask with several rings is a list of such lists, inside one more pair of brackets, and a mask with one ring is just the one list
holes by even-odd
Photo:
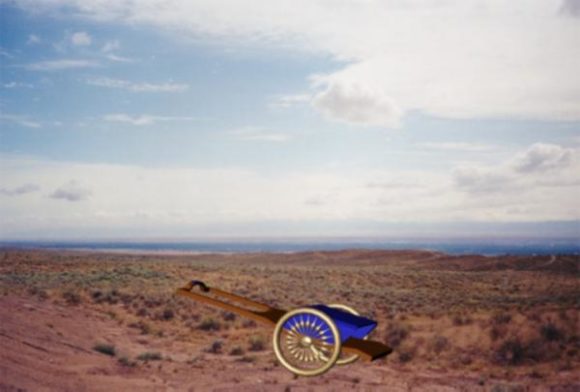
[[555, 144], [536, 143], [518, 155], [513, 162], [520, 173], [545, 171], [568, 166], [573, 150]]

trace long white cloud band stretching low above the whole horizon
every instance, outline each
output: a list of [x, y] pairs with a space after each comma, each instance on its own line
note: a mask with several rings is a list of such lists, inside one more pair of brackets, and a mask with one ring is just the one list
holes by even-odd
[[[251, 235], [260, 222], [294, 222], [304, 230], [313, 222], [327, 222], [351, 227], [347, 234], [352, 234], [361, 221], [580, 219], [576, 161], [526, 174], [509, 162], [455, 173], [312, 168], [273, 176], [233, 167], [138, 167], [5, 156], [0, 157], [0, 176], [9, 189], [30, 183], [54, 192], [49, 198], [38, 193], [4, 198], [0, 229], [4, 234], [50, 229], [75, 235], [90, 229], [101, 236], [113, 231], [187, 236], [207, 235], [217, 227], [222, 234]], [[55, 203], [53, 198], [83, 202]]]

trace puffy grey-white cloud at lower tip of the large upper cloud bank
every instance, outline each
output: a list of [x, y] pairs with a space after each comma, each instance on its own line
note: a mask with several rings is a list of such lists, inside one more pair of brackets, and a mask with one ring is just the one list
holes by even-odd
[[354, 81], [329, 81], [313, 105], [330, 119], [363, 126], [396, 127], [402, 115], [382, 89]]

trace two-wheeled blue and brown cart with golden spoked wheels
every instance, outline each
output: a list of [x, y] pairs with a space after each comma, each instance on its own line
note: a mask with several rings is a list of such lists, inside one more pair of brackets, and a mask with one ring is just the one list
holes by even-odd
[[[196, 287], [200, 292], [194, 291]], [[377, 322], [346, 305], [310, 305], [285, 311], [208, 287], [199, 280], [177, 289], [177, 294], [274, 327], [278, 361], [299, 376], [317, 376], [335, 364], [346, 365], [359, 358], [373, 361], [392, 351], [367, 339]]]

